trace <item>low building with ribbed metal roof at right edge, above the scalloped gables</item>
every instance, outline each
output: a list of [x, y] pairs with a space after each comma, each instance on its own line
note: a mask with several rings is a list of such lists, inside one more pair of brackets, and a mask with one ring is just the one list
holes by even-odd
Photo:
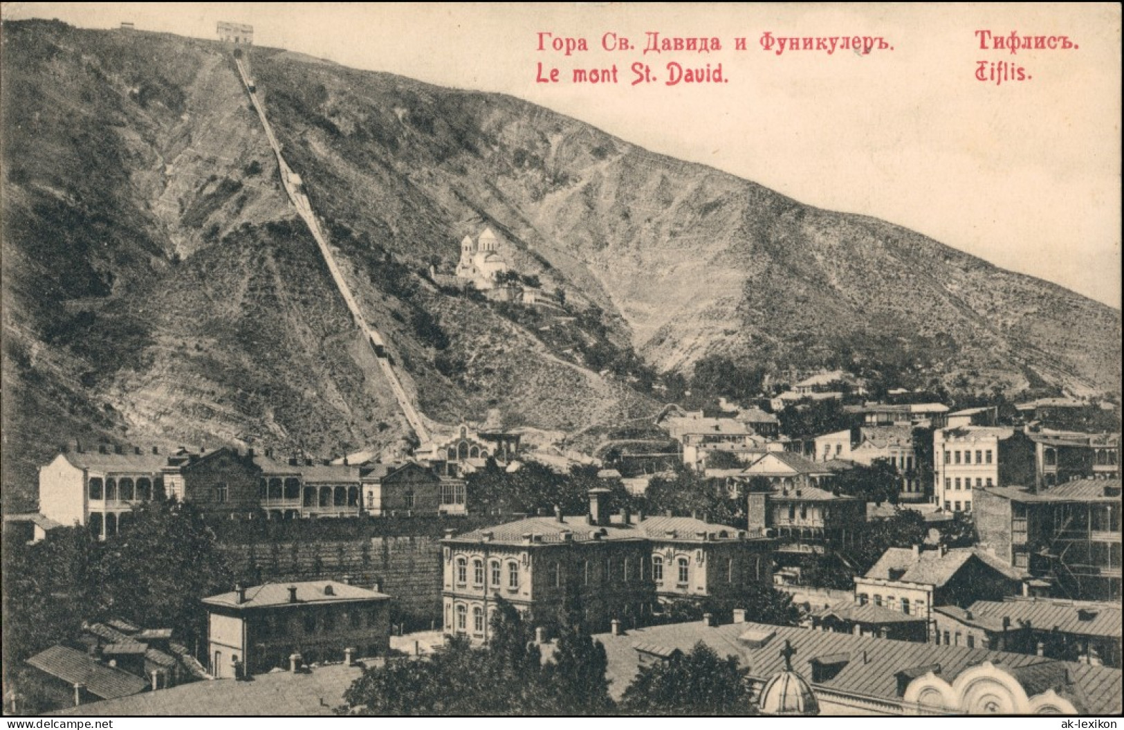
[[944, 643], [1121, 667], [1121, 604], [1057, 598], [933, 609]]

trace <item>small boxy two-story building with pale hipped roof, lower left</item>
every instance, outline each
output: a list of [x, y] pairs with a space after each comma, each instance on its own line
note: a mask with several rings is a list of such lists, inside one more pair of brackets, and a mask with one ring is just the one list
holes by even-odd
[[335, 580], [236, 586], [203, 598], [203, 607], [217, 678], [374, 657], [390, 648], [390, 596]]

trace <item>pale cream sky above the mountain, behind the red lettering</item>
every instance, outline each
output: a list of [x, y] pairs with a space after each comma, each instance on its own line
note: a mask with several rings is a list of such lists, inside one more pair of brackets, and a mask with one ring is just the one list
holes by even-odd
[[[1094, 4], [555, 3], [2, 4], [4, 19], [215, 37], [461, 89], [497, 91], [821, 208], [883, 218], [1006, 269], [1121, 306], [1121, 8]], [[1072, 48], [980, 47], [979, 30]], [[780, 37], [886, 39], [856, 54], [765, 49]], [[541, 36], [540, 34], [551, 34]], [[605, 34], [634, 49], [606, 51]], [[720, 49], [644, 53], [647, 34]], [[745, 49], [735, 38], [746, 39]], [[543, 48], [540, 49], [541, 38]], [[588, 51], [553, 51], [555, 38]], [[564, 42], [563, 42], [564, 44]], [[813, 42], [813, 45], [815, 42]], [[686, 45], [686, 44], [685, 44]], [[1055, 45], [1063, 45], [1059, 39]], [[1033, 46], [1033, 42], [1032, 42]], [[668, 85], [668, 64], [724, 81]], [[992, 64], [1023, 81], [979, 81]], [[652, 82], [633, 85], [634, 63]], [[540, 83], [559, 71], [556, 83]], [[574, 83], [617, 67], [617, 83]], [[1000, 71], [1000, 79], [1003, 78]]]

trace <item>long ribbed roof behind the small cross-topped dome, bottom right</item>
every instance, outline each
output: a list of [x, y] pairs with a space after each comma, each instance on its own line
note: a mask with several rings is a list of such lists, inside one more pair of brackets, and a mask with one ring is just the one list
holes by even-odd
[[[755, 636], [772, 636], [763, 642], [740, 641], [738, 637], [747, 630], [760, 632]], [[792, 668], [805, 677], [812, 677], [809, 663], [813, 659], [844, 652], [850, 656], [839, 674], [813, 685], [819, 690], [849, 692], [896, 702], [900, 700], [897, 675], [903, 670], [939, 664], [941, 677], [952, 683], [966, 669], [990, 661], [1005, 672], [1014, 672], [1019, 667], [1041, 667], [1043, 672], [1039, 673], [1040, 678], [1045, 676], [1048, 667], [1051, 666], [1068, 669], [1069, 679], [1073, 685], [1067, 685], [1069, 687], [1067, 691], [1080, 693], [1085, 697], [1081, 704], [1084, 711], [1089, 714], [1118, 714], [1122, 704], [1120, 669], [989, 649], [894, 641], [754, 623], [711, 628], [701, 621], [633, 629], [619, 637], [598, 634], [597, 640], [605, 646], [608, 658], [607, 674], [611, 679], [609, 692], [616, 697], [624, 693], [625, 687], [638, 672], [638, 657], [634, 649], [636, 643], [652, 643], [690, 651], [695, 643], [703, 641], [720, 657], [729, 655], [736, 657], [743, 667], [749, 668], [751, 677], [764, 682], [783, 669], [785, 660], [780, 656], [780, 648], [788, 640], [796, 649]], [[1060, 682], [1064, 682], [1064, 673], [1059, 673], [1057, 676]], [[1040, 686], [1040, 684], [1034, 685], [1035, 688]]]

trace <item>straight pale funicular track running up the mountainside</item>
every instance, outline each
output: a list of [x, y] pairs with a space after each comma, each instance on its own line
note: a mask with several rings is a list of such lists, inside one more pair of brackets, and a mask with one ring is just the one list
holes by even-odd
[[339, 290], [341, 296], [343, 296], [344, 301], [347, 304], [347, 308], [352, 313], [352, 318], [355, 319], [355, 324], [363, 332], [363, 336], [366, 337], [368, 344], [374, 351], [374, 358], [382, 368], [383, 375], [387, 376], [387, 380], [390, 382], [390, 388], [395, 393], [395, 397], [398, 399], [398, 405], [406, 416], [406, 421], [414, 429], [414, 433], [417, 434], [418, 440], [422, 443], [429, 441], [429, 430], [426, 427], [425, 421], [422, 418], [422, 414], [418, 413], [417, 408], [414, 407], [414, 403], [410, 400], [402, 388], [401, 381], [398, 379], [398, 375], [395, 372], [393, 367], [390, 364], [389, 353], [387, 352], [386, 341], [382, 335], [368, 324], [366, 319], [363, 317], [363, 312], [360, 309], [359, 301], [355, 300], [352, 294], [351, 287], [347, 286], [347, 281], [344, 279], [343, 271], [336, 264], [336, 259], [328, 247], [328, 241], [320, 231], [320, 224], [316, 220], [316, 214], [312, 211], [312, 206], [308, 201], [308, 196], [303, 193], [301, 188], [300, 177], [297, 175], [289, 163], [284, 161], [284, 156], [281, 154], [281, 143], [273, 135], [273, 127], [270, 125], [269, 118], [265, 116], [265, 109], [262, 107], [261, 102], [257, 100], [256, 89], [253, 85], [250, 74], [246, 72], [246, 66], [243, 64], [242, 58], [235, 58], [235, 64], [238, 66], [238, 75], [242, 76], [242, 83], [246, 88], [246, 92], [250, 94], [250, 101], [254, 105], [254, 109], [257, 111], [257, 117], [262, 120], [262, 128], [265, 129], [265, 137], [270, 142], [270, 146], [273, 147], [273, 154], [278, 159], [278, 168], [281, 170], [281, 182], [284, 186], [284, 191], [288, 193], [289, 199], [292, 205], [297, 208], [297, 213], [305, 220], [305, 225], [308, 226], [309, 232], [312, 237], [316, 238], [316, 244], [320, 247], [320, 254], [324, 256], [325, 263], [328, 264], [328, 271], [332, 272], [332, 278], [336, 282], [336, 288]]

